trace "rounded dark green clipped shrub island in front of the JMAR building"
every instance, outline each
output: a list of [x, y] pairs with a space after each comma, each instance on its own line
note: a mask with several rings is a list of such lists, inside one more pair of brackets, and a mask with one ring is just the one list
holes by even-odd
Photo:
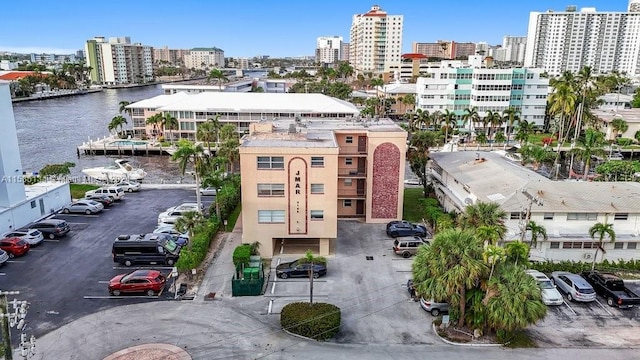
[[296, 302], [280, 312], [283, 329], [314, 340], [327, 340], [340, 330], [340, 308], [327, 303]]

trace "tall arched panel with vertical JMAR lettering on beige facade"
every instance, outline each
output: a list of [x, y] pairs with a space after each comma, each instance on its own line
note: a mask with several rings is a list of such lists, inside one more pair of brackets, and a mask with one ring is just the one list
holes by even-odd
[[289, 234], [307, 233], [307, 162], [289, 161]]

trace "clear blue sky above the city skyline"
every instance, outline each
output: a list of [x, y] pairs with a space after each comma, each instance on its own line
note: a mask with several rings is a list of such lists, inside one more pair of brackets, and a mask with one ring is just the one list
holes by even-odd
[[412, 42], [525, 36], [529, 12], [567, 5], [626, 11], [627, 0], [40, 0], [0, 7], [0, 51], [75, 53], [95, 36], [173, 49], [218, 47], [226, 57], [313, 55], [319, 36], [349, 40], [354, 14], [377, 4], [404, 15], [403, 52]]

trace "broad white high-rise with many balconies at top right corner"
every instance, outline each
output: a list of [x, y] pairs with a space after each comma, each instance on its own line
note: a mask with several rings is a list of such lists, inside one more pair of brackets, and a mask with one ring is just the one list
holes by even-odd
[[[629, 2], [636, 9], [637, 0]], [[640, 74], [640, 12], [577, 11], [532, 12], [529, 15], [526, 67], [550, 75], [577, 72], [589, 66], [595, 73]]]

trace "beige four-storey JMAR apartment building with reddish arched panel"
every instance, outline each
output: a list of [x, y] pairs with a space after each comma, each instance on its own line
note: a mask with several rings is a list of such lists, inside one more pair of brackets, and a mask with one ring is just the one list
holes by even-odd
[[267, 258], [330, 255], [338, 220], [400, 219], [406, 142], [389, 119], [251, 124], [239, 148], [242, 242], [259, 242]]

